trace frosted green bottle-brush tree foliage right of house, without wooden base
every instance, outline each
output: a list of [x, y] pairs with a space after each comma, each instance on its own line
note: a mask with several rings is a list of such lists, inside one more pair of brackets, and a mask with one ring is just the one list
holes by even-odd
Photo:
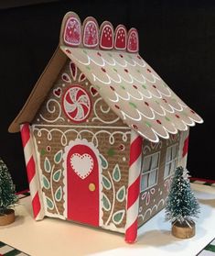
[[172, 223], [193, 223], [198, 217], [199, 203], [192, 192], [188, 180], [188, 171], [177, 167], [167, 197], [166, 219]]

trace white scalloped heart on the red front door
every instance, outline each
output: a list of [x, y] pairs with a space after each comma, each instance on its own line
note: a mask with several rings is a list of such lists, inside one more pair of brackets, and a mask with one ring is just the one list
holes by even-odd
[[91, 173], [94, 164], [91, 155], [75, 153], [70, 157], [70, 165], [83, 180]]

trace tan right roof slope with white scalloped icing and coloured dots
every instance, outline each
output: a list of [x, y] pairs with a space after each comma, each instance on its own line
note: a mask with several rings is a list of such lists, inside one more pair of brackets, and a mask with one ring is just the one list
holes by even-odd
[[137, 53], [60, 46], [124, 123], [153, 142], [201, 117]]

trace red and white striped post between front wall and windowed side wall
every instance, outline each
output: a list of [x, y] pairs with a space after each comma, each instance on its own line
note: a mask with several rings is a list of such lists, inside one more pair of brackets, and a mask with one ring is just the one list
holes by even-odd
[[134, 243], [137, 237], [142, 143], [143, 138], [132, 130], [127, 190], [127, 219], [125, 230], [125, 241], [128, 243]]

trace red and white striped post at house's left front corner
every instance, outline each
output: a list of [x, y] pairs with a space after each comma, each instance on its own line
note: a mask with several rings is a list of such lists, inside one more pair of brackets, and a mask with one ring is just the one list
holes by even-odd
[[33, 213], [35, 219], [39, 220], [44, 217], [44, 210], [43, 205], [41, 203], [41, 196], [38, 191], [38, 174], [36, 173], [36, 162], [29, 124], [25, 123], [21, 125], [20, 131], [27, 166], [27, 178], [32, 200]]

